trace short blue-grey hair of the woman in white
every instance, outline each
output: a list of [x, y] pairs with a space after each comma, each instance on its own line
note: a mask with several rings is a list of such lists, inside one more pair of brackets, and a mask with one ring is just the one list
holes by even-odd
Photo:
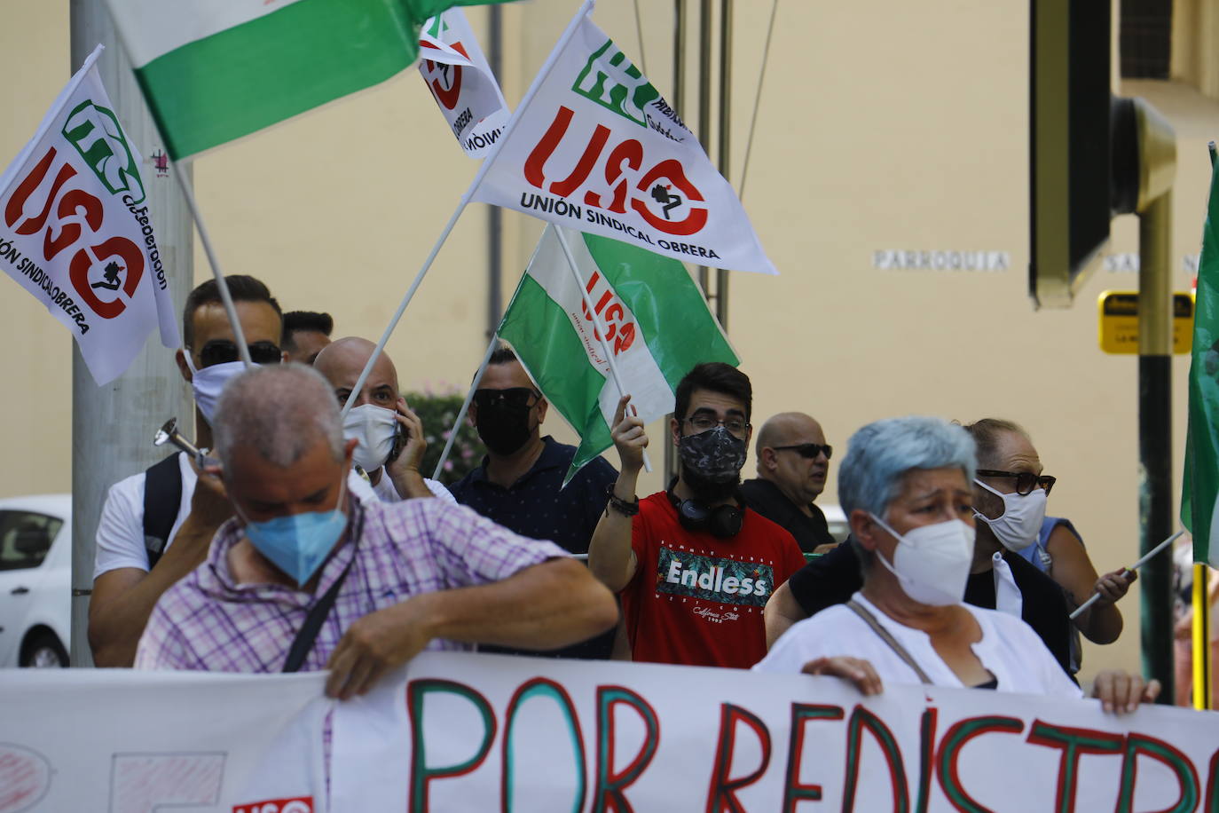
[[967, 483], [978, 468], [974, 439], [959, 425], [920, 416], [875, 421], [847, 441], [839, 502], [848, 517], [862, 508], [884, 518], [906, 472], [948, 467], [959, 467]]

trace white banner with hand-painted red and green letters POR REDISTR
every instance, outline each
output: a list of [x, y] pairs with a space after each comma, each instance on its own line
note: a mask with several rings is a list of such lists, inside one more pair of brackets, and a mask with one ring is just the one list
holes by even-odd
[[1213, 811], [1219, 714], [424, 653], [334, 714], [336, 811]]

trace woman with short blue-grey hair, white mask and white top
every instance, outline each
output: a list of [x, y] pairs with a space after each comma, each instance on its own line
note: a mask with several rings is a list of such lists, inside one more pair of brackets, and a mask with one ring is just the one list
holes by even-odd
[[[975, 468], [973, 439], [940, 418], [859, 429], [839, 468], [839, 500], [864, 551], [863, 589], [794, 625], [753, 668], [837, 675], [864, 695], [891, 681], [1079, 697], [1028, 624], [962, 602]], [[1095, 684], [1107, 711], [1158, 692], [1158, 681], [1120, 672]]]

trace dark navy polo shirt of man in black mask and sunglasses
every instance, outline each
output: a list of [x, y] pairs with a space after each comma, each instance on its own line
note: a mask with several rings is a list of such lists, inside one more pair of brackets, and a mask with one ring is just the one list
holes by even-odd
[[[449, 490], [457, 502], [508, 530], [531, 539], [549, 539], [572, 553], [588, 553], [589, 540], [606, 508], [607, 490], [618, 479], [618, 470], [603, 457], [594, 458], [575, 473], [564, 489], [563, 475], [575, 457], [575, 446], [561, 444], [550, 435], [542, 438], [542, 444], [545, 447], [538, 462], [507, 489], [486, 479], [484, 457], [482, 466], [450, 485]], [[613, 652], [614, 631], [610, 630], [583, 644], [552, 652], [496, 646], [480, 646], [479, 650], [606, 659]]]

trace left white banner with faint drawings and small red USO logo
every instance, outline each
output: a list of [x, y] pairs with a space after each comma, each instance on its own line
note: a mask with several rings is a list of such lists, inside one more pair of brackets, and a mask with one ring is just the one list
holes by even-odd
[[324, 683], [0, 670], [0, 813], [319, 813]]

